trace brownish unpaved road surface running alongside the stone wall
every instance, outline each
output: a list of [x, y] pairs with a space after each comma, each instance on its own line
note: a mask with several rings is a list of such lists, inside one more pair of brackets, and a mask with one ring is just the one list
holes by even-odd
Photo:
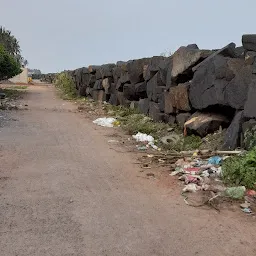
[[[184, 204], [177, 188], [138, 177], [134, 157], [47, 86], [0, 128], [0, 255], [256, 255], [240, 212]], [[113, 131], [112, 131], [113, 132]]]

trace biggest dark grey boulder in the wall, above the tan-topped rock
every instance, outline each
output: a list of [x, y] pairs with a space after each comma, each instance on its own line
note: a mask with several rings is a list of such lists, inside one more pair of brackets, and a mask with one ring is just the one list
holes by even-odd
[[191, 105], [198, 110], [216, 105], [243, 109], [253, 79], [252, 66], [244, 60], [216, 55], [195, 72], [189, 90]]

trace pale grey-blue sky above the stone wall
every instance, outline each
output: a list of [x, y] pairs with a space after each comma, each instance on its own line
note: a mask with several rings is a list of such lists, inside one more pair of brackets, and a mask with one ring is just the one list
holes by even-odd
[[44, 73], [218, 49], [256, 33], [255, 0], [0, 0], [0, 26]]

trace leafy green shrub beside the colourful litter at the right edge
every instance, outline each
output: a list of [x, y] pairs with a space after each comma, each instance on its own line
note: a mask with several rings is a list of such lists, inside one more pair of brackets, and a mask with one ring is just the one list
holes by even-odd
[[245, 186], [255, 189], [256, 147], [242, 156], [226, 159], [222, 165], [223, 180], [231, 186]]

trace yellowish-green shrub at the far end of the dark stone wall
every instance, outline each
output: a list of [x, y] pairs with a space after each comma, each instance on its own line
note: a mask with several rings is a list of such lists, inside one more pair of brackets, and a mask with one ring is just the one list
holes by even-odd
[[75, 83], [70, 75], [65, 72], [58, 74], [55, 78], [54, 84], [61, 92], [64, 99], [75, 99], [77, 97], [77, 90]]

